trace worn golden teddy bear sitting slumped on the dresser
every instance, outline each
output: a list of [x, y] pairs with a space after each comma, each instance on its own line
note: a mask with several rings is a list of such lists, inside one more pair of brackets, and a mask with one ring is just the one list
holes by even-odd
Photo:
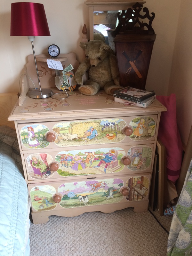
[[[109, 95], [122, 88], [119, 85], [117, 60], [108, 44], [102, 40], [90, 40], [80, 43], [87, 56], [77, 68], [74, 79], [80, 84], [79, 91], [85, 95], [94, 95], [104, 89]], [[89, 80], [83, 84], [82, 76], [88, 71]]]

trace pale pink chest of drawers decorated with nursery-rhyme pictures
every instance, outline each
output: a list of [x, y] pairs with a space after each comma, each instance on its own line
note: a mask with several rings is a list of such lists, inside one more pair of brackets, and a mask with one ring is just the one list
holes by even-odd
[[[54, 89], [53, 89], [54, 91]], [[103, 91], [66, 100], [31, 99], [13, 108], [34, 223], [50, 215], [148, 210], [162, 111], [114, 102]]]

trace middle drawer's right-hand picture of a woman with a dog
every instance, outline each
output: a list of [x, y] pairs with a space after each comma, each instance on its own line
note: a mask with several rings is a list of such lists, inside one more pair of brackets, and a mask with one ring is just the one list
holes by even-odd
[[147, 145], [138, 145], [129, 149], [128, 156], [131, 157], [131, 164], [127, 167], [131, 171], [144, 171], [151, 165], [153, 150]]

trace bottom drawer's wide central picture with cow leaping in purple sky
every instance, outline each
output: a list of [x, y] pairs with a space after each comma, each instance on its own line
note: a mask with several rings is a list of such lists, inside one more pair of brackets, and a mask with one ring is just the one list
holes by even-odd
[[63, 195], [59, 204], [63, 208], [73, 208], [118, 203], [123, 199], [119, 191], [122, 186], [123, 180], [116, 178], [66, 182], [58, 188]]

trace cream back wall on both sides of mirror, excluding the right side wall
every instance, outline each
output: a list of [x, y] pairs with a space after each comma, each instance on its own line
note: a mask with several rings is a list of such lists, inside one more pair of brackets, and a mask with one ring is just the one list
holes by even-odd
[[[1, 1], [2, 2], [2, 1]], [[10, 15], [11, 3], [20, 1], [3, 0], [1, 3], [0, 40], [4, 44], [4, 51], [1, 52], [1, 82], [0, 92], [18, 92], [19, 78], [23, 73], [26, 63], [26, 56], [32, 54], [31, 43], [27, 37], [10, 36]], [[26, 0], [26, 2], [30, 2]], [[60, 46], [61, 53], [75, 52], [77, 59], [82, 59], [82, 49], [79, 41], [82, 37], [83, 24], [89, 20], [88, 7], [84, 0], [57, 0], [53, 4], [51, 0], [37, 0], [37, 3], [44, 4], [47, 21], [51, 36], [37, 36], [34, 41], [37, 54], [46, 53], [47, 47], [53, 42]], [[168, 2], [168, 3], [167, 3]], [[154, 44], [151, 64], [148, 72], [146, 89], [155, 90], [156, 94], [167, 94], [172, 53], [176, 35], [175, 24], [178, 22], [179, 5], [175, 1], [162, 0], [154, 3], [154, 0], [147, 0], [144, 4], [149, 12], [155, 12], [153, 28], [157, 34]], [[169, 15], [168, 10], [171, 11]], [[171, 16], [171, 17], [170, 17]], [[169, 26], [167, 26], [169, 24]], [[169, 45], [169, 47], [167, 47]]]

